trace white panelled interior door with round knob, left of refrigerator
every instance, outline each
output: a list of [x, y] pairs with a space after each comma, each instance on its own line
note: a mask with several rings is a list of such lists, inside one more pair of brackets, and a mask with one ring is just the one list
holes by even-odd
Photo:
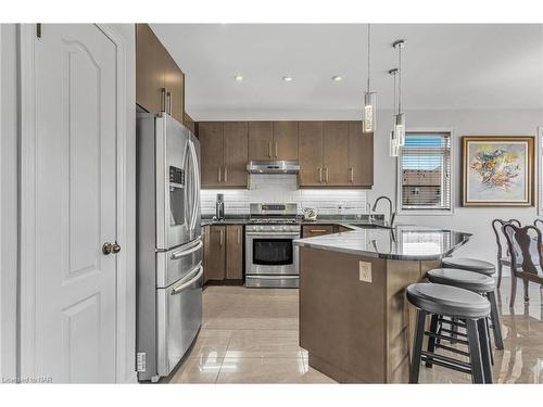
[[30, 49], [34, 161], [25, 167], [23, 152], [22, 179], [34, 180], [34, 215], [22, 212], [22, 295], [31, 297], [22, 313], [35, 331], [22, 315], [22, 374], [114, 382], [116, 255], [102, 245], [116, 240], [115, 46], [96, 25], [46, 24]]

